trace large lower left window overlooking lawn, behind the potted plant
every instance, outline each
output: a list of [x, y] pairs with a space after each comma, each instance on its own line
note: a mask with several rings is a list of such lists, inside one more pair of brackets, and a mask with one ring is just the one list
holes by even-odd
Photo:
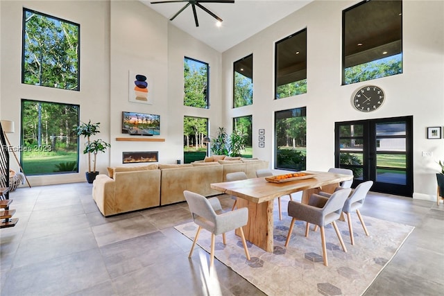
[[79, 105], [22, 100], [22, 167], [26, 175], [78, 173]]

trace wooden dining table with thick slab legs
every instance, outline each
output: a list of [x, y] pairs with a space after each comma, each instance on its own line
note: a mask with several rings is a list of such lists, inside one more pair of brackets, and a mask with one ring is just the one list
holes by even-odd
[[[303, 171], [312, 177], [289, 182], [268, 182], [266, 177], [211, 184], [212, 189], [237, 197], [237, 207], [248, 208], [248, 223], [244, 226], [247, 241], [273, 252], [273, 203], [282, 195], [302, 191], [302, 203], [307, 204], [312, 193], [332, 193], [340, 182], [351, 180], [352, 175]], [[238, 230], [236, 234], [238, 234]], [[239, 235], [239, 234], [238, 234]]]

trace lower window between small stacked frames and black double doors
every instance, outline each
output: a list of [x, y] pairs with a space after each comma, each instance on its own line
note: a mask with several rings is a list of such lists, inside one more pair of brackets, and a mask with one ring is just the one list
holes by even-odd
[[307, 108], [275, 112], [275, 168], [305, 170]]

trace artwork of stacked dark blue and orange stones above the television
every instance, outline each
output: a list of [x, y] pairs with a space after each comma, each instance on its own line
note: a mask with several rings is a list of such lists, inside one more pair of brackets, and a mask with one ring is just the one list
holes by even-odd
[[128, 76], [128, 101], [153, 105], [153, 78], [136, 71], [129, 71]]

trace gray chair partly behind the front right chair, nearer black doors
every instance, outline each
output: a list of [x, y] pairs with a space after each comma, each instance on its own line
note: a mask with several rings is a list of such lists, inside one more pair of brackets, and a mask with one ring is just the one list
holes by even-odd
[[[367, 193], [373, 185], [373, 181], [366, 181], [359, 184], [356, 189], [352, 192], [349, 198], [345, 200], [344, 207], [342, 211], [347, 214], [348, 221], [348, 229], [350, 230], [350, 241], [352, 245], [355, 245], [355, 238], [353, 238], [353, 226], [352, 226], [352, 211], [356, 211], [358, 215], [359, 221], [361, 222], [362, 228], [364, 228], [364, 232], [366, 236], [368, 236], [368, 230], [364, 220], [362, 219], [361, 212], [359, 209], [364, 205], [364, 200], [366, 199]], [[329, 193], [320, 192], [321, 195], [325, 197], [329, 197]]]

